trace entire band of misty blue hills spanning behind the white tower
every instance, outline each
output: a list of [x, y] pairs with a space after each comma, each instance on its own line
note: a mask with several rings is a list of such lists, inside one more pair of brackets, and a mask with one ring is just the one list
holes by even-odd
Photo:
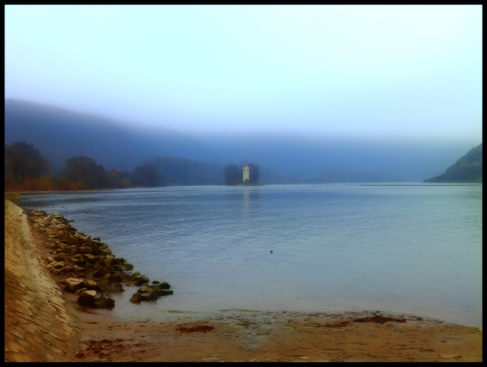
[[[164, 123], [161, 117], [161, 126]], [[151, 157], [166, 157], [151, 162], [169, 171], [173, 183], [220, 183], [223, 172], [219, 173], [219, 165], [243, 165], [245, 160], [261, 166], [260, 182], [264, 184], [418, 182], [437, 175], [438, 167], [448, 167], [471, 146], [465, 141], [314, 138], [280, 135], [279, 131], [225, 135], [208, 129], [207, 135], [190, 137], [190, 133], [143, 126], [143, 121], [130, 125], [56, 106], [5, 99], [5, 144], [33, 144], [50, 161], [54, 175], [66, 159], [75, 156], [93, 158], [107, 171], [120, 167], [133, 170]]]

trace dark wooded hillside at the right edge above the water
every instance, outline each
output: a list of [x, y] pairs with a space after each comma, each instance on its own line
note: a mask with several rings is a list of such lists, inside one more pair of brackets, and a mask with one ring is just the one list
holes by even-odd
[[482, 182], [482, 143], [458, 159], [443, 175], [423, 182]]

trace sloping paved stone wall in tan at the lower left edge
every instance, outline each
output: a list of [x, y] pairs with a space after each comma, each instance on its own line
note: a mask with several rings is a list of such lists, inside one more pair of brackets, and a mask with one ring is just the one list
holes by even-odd
[[75, 310], [39, 260], [25, 214], [5, 200], [6, 362], [75, 360]]

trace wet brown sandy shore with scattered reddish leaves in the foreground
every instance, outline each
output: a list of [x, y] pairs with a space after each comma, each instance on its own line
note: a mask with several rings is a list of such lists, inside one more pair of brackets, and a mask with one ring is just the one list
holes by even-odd
[[[351, 322], [326, 327], [363, 314], [289, 314], [227, 310], [193, 319], [121, 322], [105, 315], [82, 313], [80, 344], [86, 340], [120, 340], [106, 350], [80, 350], [82, 361], [121, 362], [480, 362], [482, 333], [434, 320], [406, 323]], [[370, 314], [368, 314], [370, 315]], [[184, 318], [183, 318], [184, 317]], [[186, 318], [188, 317], [188, 318]], [[211, 325], [206, 333], [181, 333], [178, 325]], [[118, 345], [118, 347], [116, 347]], [[79, 354], [79, 353], [78, 353]]]

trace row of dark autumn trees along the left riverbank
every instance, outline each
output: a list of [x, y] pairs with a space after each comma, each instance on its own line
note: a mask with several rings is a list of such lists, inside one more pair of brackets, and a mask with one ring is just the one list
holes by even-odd
[[169, 183], [215, 184], [223, 182], [222, 166], [175, 157], [152, 157], [130, 172], [105, 171], [94, 159], [66, 159], [63, 170], [52, 175], [47, 159], [25, 141], [5, 145], [5, 191], [73, 191], [166, 186]]

